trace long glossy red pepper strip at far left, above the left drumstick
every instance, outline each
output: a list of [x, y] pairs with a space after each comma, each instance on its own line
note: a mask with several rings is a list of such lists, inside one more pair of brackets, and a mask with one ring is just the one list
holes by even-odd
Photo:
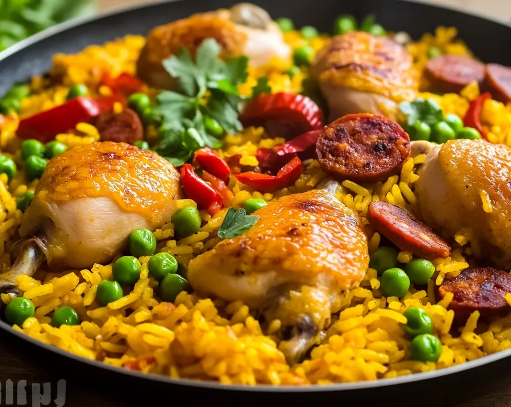
[[35, 138], [42, 142], [51, 141], [58, 133], [74, 128], [80, 122], [89, 122], [92, 117], [112, 108], [114, 98], [94, 100], [82, 96], [62, 105], [44, 110], [20, 120], [17, 136]]

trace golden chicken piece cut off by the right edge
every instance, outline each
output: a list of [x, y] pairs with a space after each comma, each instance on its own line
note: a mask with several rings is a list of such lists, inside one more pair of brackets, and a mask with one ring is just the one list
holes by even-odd
[[[508, 266], [511, 149], [484, 140], [448, 141], [433, 147], [419, 174], [415, 194], [423, 220], [450, 238], [471, 228], [475, 255]], [[491, 212], [483, 208], [484, 197]]]

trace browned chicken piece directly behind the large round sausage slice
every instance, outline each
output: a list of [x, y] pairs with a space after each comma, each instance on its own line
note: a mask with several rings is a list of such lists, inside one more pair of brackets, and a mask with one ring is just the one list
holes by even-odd
[[364, 32], [332, 38], [316, 55], [312, 74], [329, 104], [331, 122], [350, 113], [392, 118], [396, 105], [412, 100], [419, 89], [405, 49]]

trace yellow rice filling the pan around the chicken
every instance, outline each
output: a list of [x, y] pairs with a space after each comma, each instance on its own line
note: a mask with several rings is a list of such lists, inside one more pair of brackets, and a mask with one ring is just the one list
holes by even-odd
[[[421, 41], [410, 44], [408, 49], [419, 68], [424, 66], [430, 46], [436, 46], [444, 53], [469, 54], [467, 47], [455, 37], [454, 29], [438, 28], [434, 36], [427, 34]], [[307, 42], [298, 32], [286, 34], [286, 40], [294, 49]], [[319, 37], [311, 45], [317, 51], [325, 41], [326, 37]], [[133, 73], [143, 44], [143, 37], [127, 36], [103, 46], [89, 46], [76, 55], [56, 55], [52, 74], [60, 78], [61, 85], [43, 89], [44, 79], [34, 78], [33, 94], [22, 101], [20, 115], [30, 115], [63, 103], [72, 84], [97, 85], [97, 67], [112, 75], [123, 71]], [[247, 83], [240, 86], [241, 92], [248, 94], [257, 78], [263, 75], [268, 76], [273, 91], [300, 91], [301, 80], [308, 75], [307, 69], [290, 79], [283, 74], [286, 68], [287, 64], [278, 60], [261, 68], [250, 68]], [[100, 94], [109, 92], [107, 87], [99, 89]], [[469, 101], [478, 93], [478, 87], [471, 84], [461, 95], [424, 95], [435, 98], [445, 113], [463, 116]], [[116, 108], [120, 109], [119, 106]], [[511, 146], [511, 106], [486, 102], [482, 121], [490, 132], [491, 141]], [[16, 115], [6, 117], [0, 127], [0, 149], [2, 154], [13, 157], [20, 164], [19, 140], [14, 134], [17, 122]], [[57, 140], [71, 148], [99, 139], [98, 131], [88, 124], [79, 124], [76, 133], [59, 134]], [[255, 153], [258, 148], [271, 148], [281, 142], [283, 139], [264, 138], [262, 128], [249, 128], [226, 136], [224, 149], [219, 153], [223, 157], [240, 154], [242, 164], [257, 165]], [[384, 182], [359, 185], [344, 181], [337, 198], [355, 210], [365, 224], [368, 205], [373, 201], [390, 202], [413, 210], [414, 183], [419, 178], [417, 167], [424, 160], [424, 155], [410, 158], [400, 174]], [[306, 161], [304, 167], [294, 185], [273, 194], [262, 194], [231, 177], [228, 186], [235, 194], [233, 205], [238, 208], [250, 197], [274, 201], [287, 194], [310, 190], [326, 176], [316, 160]], [[27, 183], [21, 173], [10, 182], [3, 174], [0, 181], [0, 268], [6, 271], [11, 266], [9, 250], [18, 237], [21, 220], [15, 198], [33, 190], [37, 181]], [[481, 191], [481, 200], [485, 210], [491, 211], [484, 191]], [[196, 203], [191, 200], [178, 202], [178, 207], [188, 205], [196, 206]], [[225, 213], [226, 210], [222, 210], [211, 217], [201, 212], [204, 222], [200, 231], [181, 240], [174, 238], [172, 224], [164, 225], [155, 232], [157, 251], [171, 253], [186, 268], [192, 258], [219, 241], [216, 231]], [[378, 233], [369, 236], [369, 253], [378, 248], [380, 240]], [[434, 261], [435, 274], [427, 290], [416, 290], [412, 284], [402, 299], [384, 297], [379, 290], [376, 270], [368, 269], [361, 286], [345, 294], [344, 306], [339, 315], [334, 316], [326, 340], [312, 350], [308, 360], [293, 367], [286, 363], [284, 355], [277, 349], [277, 339], [272, 335], [281, 322], [272, 321], [265, 336], [253, 311], [240, 301], [227, 303], [182, 292], [174, 304], [160, 303], [153, 295], [158, 282], [148, 276], [149, 257], [140, 258], [141, 278], [133, 290], [106, 307], [96, 301], [96, 292], [101, 280], [112, 279], [111, 264], [96, 264], [91, 270], [61, 273], [41, 270], [34, 278], [19, 277], [24, 296], [34, 302], [37, 310], [34, 318], [27, 319], [21, 327], [15, 325], [14, 329], [112, 366], [122, 367], [137, 361], [137, 368], [144, 373], [211, 379], [224, 384], [327, 385], [427, 372], [511, 347], [511, 315], [479, 323], [479, 313], [474, 312], [458, 334], [453, 334], [454, 312], [447, 309], [452, 294], [448, 293], [438, 302], [435, 285], [469, 267], [471, 254], [478, 250], [470, 230], [460, 230], [453, 241], [455, 250], [451, 257]], [[406, 263], [412, 255], [402, 251], [398, 259]], [[9, 296], [2, 295], [2, 300], [7, 303]], [[506, 295], [506, 301], [511, 305], [511, 294]], [[80, 325], [54, 328], [49, 324], [49, 315], [64, 305], [77, 311], [82, 321]], [[411, 306], [425, 309], [433, 319], [434, 334], [443, 345], [442, 356], [436, 363], [409, 360], [410, 341], [401, 324], [406, 323], [404, 310]]]

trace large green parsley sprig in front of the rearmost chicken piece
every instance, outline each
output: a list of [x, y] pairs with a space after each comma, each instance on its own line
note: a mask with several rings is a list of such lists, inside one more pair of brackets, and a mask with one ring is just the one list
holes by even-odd
[[198, 48], [195, 62], [188, 49], [163, 61], [181, 92], [162, 91], [156, 98], [154, 113], [161, 117], [162, 126], [155, 151], [176, 166], [202, 147], [221, 147], [221, 140], [205, 129], [206, 116], [216, 119], [227, 133], [243, 129], [238, 120], [242, 100], [238, 85], [247, 79], [248, 58], [222, 61], [219, 54], [218, 43], [207, 39]]

